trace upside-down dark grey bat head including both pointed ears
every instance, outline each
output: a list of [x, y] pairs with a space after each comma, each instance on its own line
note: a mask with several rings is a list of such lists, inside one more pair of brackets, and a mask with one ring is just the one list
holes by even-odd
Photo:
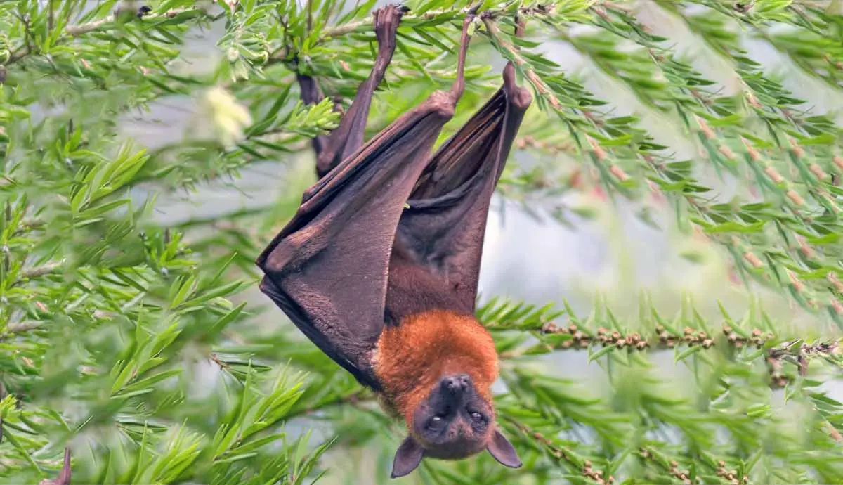
[[495, 426], [495, 409], [466, 374], [445, 375], [412, 414], [410, 435], [395, 452], [392, 477], [403, 477], [425, 456], [459, 460], [487, 450], [505, 466], [521, 460]]

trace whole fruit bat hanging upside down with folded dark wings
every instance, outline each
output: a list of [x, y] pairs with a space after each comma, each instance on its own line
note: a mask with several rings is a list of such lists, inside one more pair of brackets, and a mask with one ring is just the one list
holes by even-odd
[[[339, 127], [314, 139], [320, 180], [258, 257], [260, 290], [405, 419], [409, 434], [392, 477], [425, 456], [457, 460], [482, 450], [518, 467], [495, 424], [497, 352], [474, 312], [491, 195], [532, 96], [507, 65], [502, 88], [430, 154], [463, 93], [470, 13], [451, 90], [434, 92], [363, 143], [402, 13], [395, 6], [374, 13], [372, 73]], [[298, 81], [305, 103], [322, 98], [314, 79]]]

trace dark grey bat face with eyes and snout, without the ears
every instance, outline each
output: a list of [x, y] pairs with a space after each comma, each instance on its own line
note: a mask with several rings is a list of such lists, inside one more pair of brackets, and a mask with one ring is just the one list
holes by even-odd
[[448, 375], [433, 386], [413, 413], [411, 432], [426, 455], [459, 460], [482, 451], [491, 437], [495, 410], [469, 375]]

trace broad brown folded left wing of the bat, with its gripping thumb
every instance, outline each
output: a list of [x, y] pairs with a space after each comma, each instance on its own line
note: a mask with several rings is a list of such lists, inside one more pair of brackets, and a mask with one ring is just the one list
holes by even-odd
[[322, 352], [376, 390], [370, 362], [384, 328], [395, 232], [462, 94], [469, 24], [452, 91], [433, 93], [330, 170], [256, 261], [265, 273], [261, 291]]

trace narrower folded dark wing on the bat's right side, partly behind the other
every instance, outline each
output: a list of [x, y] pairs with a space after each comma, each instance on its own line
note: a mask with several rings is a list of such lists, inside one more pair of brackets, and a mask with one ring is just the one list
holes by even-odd
[[529, 90], [507, 65], [504, 84], [437, 153], [401, 214], [397, 244], [414, 261], [444, 278], [457, 295], [454, 310], [475, 309], [486, 218], [506, 164]]

